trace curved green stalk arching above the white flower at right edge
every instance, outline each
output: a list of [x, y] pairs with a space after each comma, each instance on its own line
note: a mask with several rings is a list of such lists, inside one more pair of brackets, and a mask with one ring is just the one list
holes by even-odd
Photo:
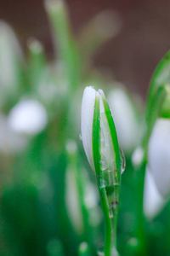
[[[150, 82], [146, 108], [147, 131], [144, 138], [144, 151], [147, 154], [148, 142], [156, 119], [170, 116], [170, 51], [163, 57]], [[147, 158], [147, 155], [146, 155]]]

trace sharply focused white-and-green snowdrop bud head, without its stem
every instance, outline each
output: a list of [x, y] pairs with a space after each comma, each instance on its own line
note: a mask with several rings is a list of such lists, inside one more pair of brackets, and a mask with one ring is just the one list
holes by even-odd
[[86, 87], [82, 97], [82, 144], [92, 169], [104, 180], [101, 187], [119, 183], [122, 160], [116, 128], [103, 90]]

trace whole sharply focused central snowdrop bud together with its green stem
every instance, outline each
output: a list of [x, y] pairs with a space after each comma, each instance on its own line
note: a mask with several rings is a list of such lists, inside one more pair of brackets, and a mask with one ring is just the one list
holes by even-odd
[[103, 90], [86, 87], [82, 97], [82, 144], [96, 174], [105, 213], [105, 256], [116, 255], [116, 222], [122, 154]]

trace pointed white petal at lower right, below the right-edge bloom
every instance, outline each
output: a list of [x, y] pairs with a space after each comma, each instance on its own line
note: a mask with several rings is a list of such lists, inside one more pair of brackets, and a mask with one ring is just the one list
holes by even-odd
[[163, 199], [156, 188], [152, 173], [146, 168], [144, 177], [144, 214], [147, 218], [154, 218], [165, 206], [166, 200]]

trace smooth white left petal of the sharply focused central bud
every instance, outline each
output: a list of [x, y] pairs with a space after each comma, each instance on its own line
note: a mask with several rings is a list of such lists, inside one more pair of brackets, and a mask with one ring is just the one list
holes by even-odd
[[94, 170], [94, 158], [92, 149], [92, 132], [94, 121], [94, 103], [96, 90], [93, 87], [86, 87], [82, 96], [82, 144], [88, 157], [88, 162]]

